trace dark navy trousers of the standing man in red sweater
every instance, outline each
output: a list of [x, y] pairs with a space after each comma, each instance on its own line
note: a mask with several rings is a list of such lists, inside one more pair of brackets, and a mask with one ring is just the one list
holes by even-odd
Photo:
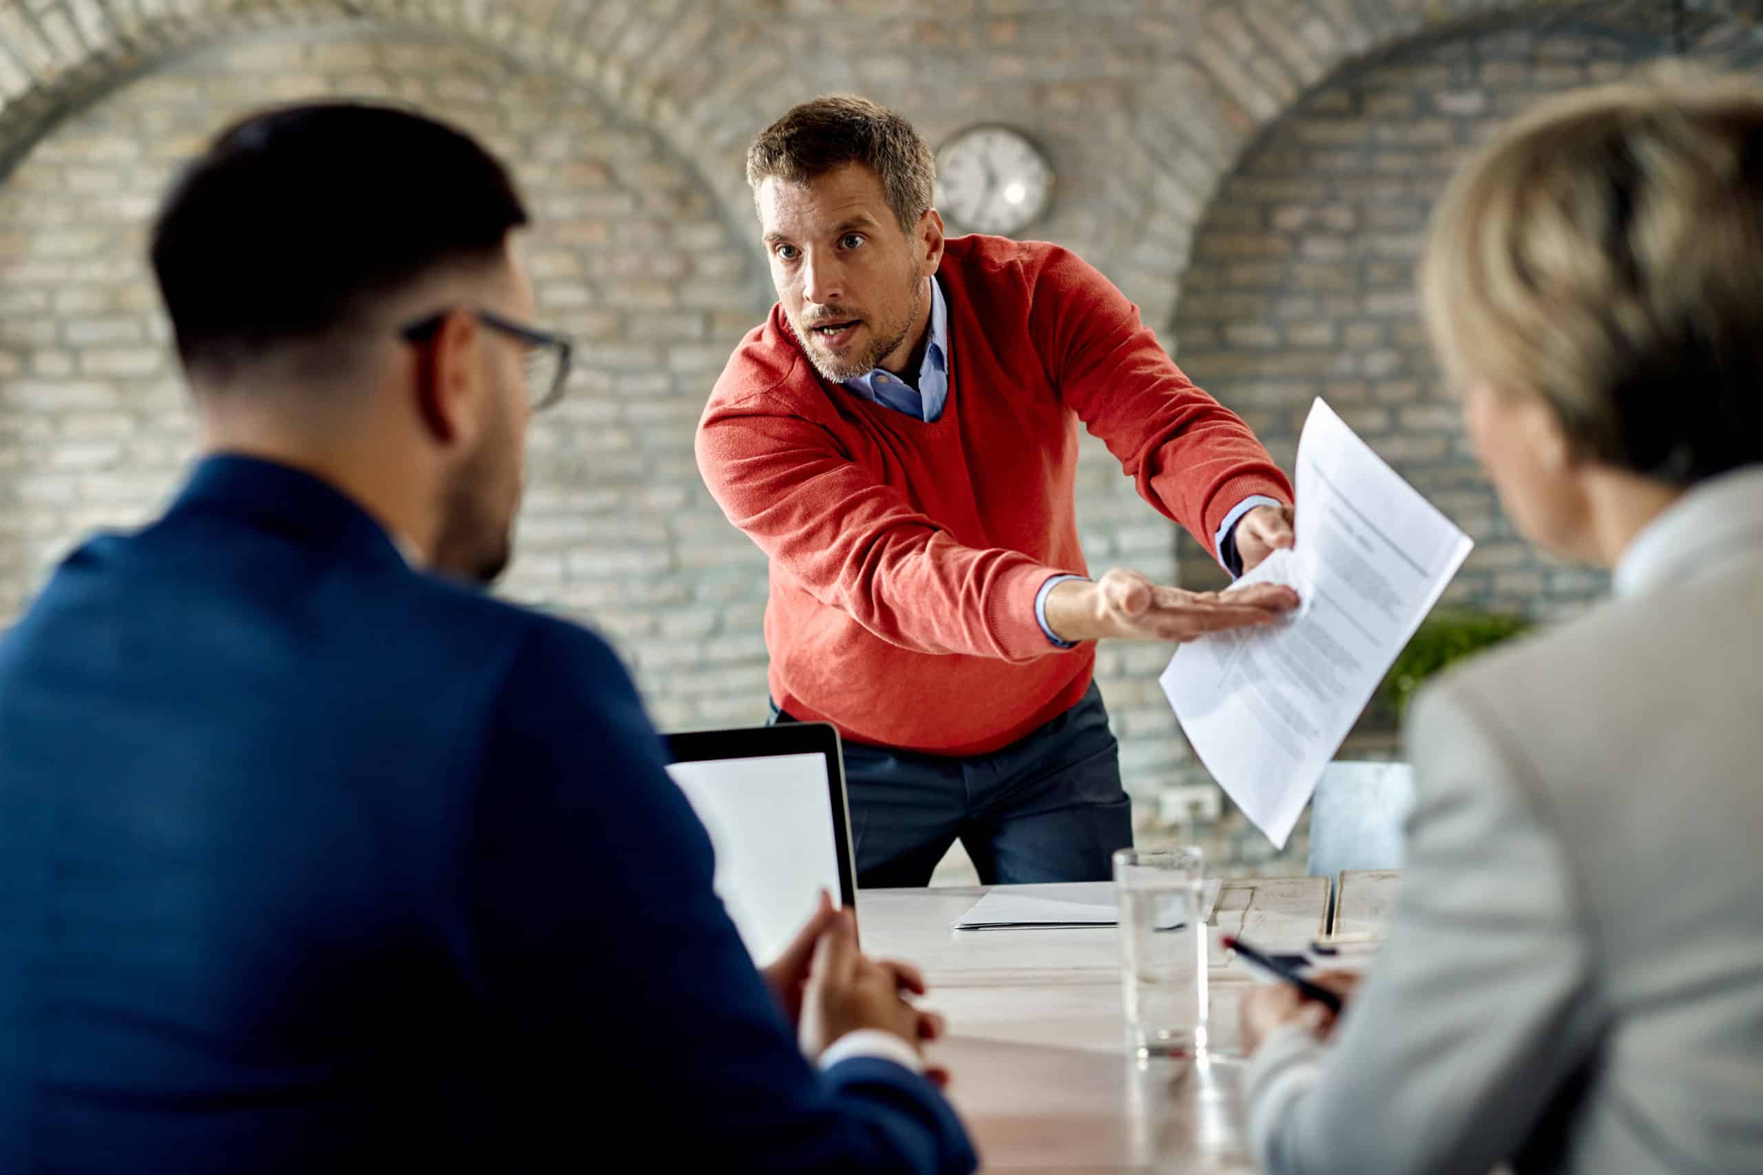
[[[795, 722], [770, 706], [772, 722]], [[1120, 743], [1091, 682], [1075, 706], [1017, 742], [947, 757], [844, 742], [860, 888], [922, 886], [961, 839], [986, 884], [1107, 881], [1132, 846]]]

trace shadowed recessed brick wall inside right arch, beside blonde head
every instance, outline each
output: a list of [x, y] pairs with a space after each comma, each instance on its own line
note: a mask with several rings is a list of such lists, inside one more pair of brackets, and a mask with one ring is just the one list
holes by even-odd
[[[1419, 321], [1426, 218], [1465, 153], [1513, 115], [1652, 63], [1668, 32], [1654, 16], [1576, 5], [1569, 21], [1460, 25], [1356, 62], [1266, 127], [1194, 229], [1169, 333], [1183, 366], [1287, 467], [1312, 398], [1328, 398], [1476, 539], [1446, 602], [1567, 613], [1604, 580], [1539, 557], [1472, 460]], [[1763, 60], [1752, 23], [1700, 12], [1685, 32], [1698, 63]]]

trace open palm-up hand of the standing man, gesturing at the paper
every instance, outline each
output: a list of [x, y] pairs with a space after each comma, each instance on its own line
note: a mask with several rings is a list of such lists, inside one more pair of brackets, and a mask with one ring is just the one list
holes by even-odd
[[[1243, 523], [1264, 509], [1273, 507], [1250, 511]], [[1298, 592], [1276, 583], [1253, 583], [1222, 595], [1183, 592], [1116, 567], [1093, 583], [1056, 583], [1047, 592], [1047, 627], [1065, 641], [1127, 638], [1179, 645], [1208, 632], [1273, 624], [1292, 608], [1298, 608]]]

